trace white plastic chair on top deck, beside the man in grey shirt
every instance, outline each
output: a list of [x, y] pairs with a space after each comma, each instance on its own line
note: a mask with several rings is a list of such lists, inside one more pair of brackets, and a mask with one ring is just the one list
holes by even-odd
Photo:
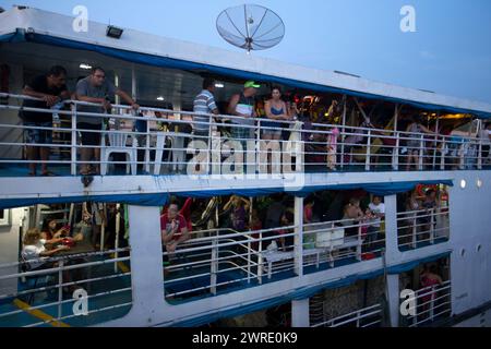
[[[136, 160], [137, 160], [137, 141], [130, 133], [125, 132], [110, 132], [107, 133], [109, 144], [106, 145], [106, 136], [103, 134], [101, 148], [100, 148], [100, 174], [105, 176], [107, 172], [107, 165], [109, 156], [112, 153], [127, 154], [127, 173], [136, 174]], [[127, 146], [128, 137], [131, 137], [131, 146]]]

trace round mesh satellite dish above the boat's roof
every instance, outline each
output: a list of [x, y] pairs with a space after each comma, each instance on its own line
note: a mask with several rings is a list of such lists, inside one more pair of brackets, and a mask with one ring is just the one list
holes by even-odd
[[216, 20], [218, 34], [229, 44], [248, 50], [265, 50], [285, 36], [285, 24], [270, 9], [243, 4], [223, 11]]

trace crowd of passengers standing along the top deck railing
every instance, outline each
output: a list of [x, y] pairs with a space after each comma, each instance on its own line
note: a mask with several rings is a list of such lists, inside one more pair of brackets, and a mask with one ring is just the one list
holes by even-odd
[[[125, 104], [131, 106], [135, 111], [140, 109], [140, 106], [133, 100], [132, 97], [119, 87], [116, 87], [109, 80], [106, 79], [106, 72], [103, 68], [96, 67], [92, 69], [92, 72], [86, 77], [79, 79], [76, 88], [70, 92], [65, 85], [67, 70], [63, 67], [55, 65], [48, 73], [34, 77], [25, 85], [23, 91], [24, 95], [40, 98], [40, 100], [25, 100], [23, 106], [31, 108], [61, 108], [60, 103], [65, 99], [74, 99], [85, 103], [93, 103], [99, 106], [79, 106], [80, 112], [95, 112], [95, 113], [111, 113], [112, 106], [110, 103], [111, 96], [119, 96]], [[223, 123], [227, 122], [226, 128], [221, 128], [220, 131], [228, 134], [231, 139], [239, 140], [242, 146], [246, 146], [247, 140], [255, 139], [254, 127], [258, 123], [252, 118], [262, 118], [261, 121], [261, 139], [265, 141], [288, 141], [291, 140], [292, 130], [302, 130], [300, 132], [301, 140], [306, 142], [306, 164], [322, 164], [331, 170], [337, 169], [337, 165], [340, 163], [340, 157], [345, 163], [351, 163], [354, 160], [352, 151], [356, 147], [360, 147], [367, 144], [367, 133], [369, 129], [372, 129], [372, 134], [379, 135], [380, 143], [376, 149], [372, 151], [372, 164], [383, 163], [379, 157], [386, 157], [392, 152], [392, 147], [395, 146], [395, 139], [387, 137], [390, 133], [384, 133], [381, 130], [386, 127], [386, 121], [374, 125], [370, 119], [371, 113], [368, 116], [362, 112], [358, 112], [355, 122], [359, 128], [363, 128], [362, 131], [356, 131], [357, 134], [342, 135], [342, 129], [345, 132], [355, 132], [350, 127], [343, 128], [340, 125], [343, 106], [346, 103], [346, 97], [331, 98], [324, 107], [319, 108], [316, 101], [319, 98], [299, 98], [292, 93], [283, 95], [280, 87], [273, 87], [270, 96], [261, 96], [256, 98], [256, 94], [261, 85], [254, 81], [248, 81], [243, 84], [243, 89], [240, 93], [232, 95], [225, 106], [218, 107], [218, 103], [215, 100], [215, 86], [216, 82], [212, 77], [205, 77], [203, 81], [203, 89], [194, 98], [193, 111], [197, 113], [207, 115], [228, 115], [232, 118], [220, 118], [215, 121]], [[309, 101], [310, 100], [310, 101]], [[363, 104], [361, 104], [363, 106]], [[315, 110], [315, 108], [318, 108]], [[361, 109], [361, 107], [359, 107]], [[373, 109], [372, 109], [373, 111]], [[143, 112], [136, 112], [139, 116], [143, 116]], [[178, 130], [181, 133], [189, 133], [187, 142], [192, 140], [192, 135], [203, 140], [209, 135], [209, 123], [212, 120], [208, 116], [195, 115], [191, 118], [194, 122], [189, 124], [172, 123], [161, 112], [155, 112], [155, 117], [163, 118], [163, 124], [168, 130]], [[26, 143], [26, 157], [29, 161], [41, 160], [41, 176], [53, 176], [47, 165], [47, 160], [50, 155], [49, 146], [34, 146], [52, 144], [52, 131], [39, 128], [52, 128], [53, 116], [50, 112], [36, 112], [36, 111], [20, 111], [20, 118], [23, 120], [25, 130]], [[438, 135], [450, 135], [455, 124], [445, 124], [435, 129], [436, 124], [433, 121], [426, 123], [420, 117], [420, 112], [412, 110], [407, 113], [402, 113], [399, 118], [399, 131], [406, 131], [410, 133], [426, 134], [423, 143], [423, 156], [432, 156], [435, 154], [438, 145], [434, 143]], [[80, 151], [80, 160], [82, 161], [80, 173], [81, 174], [97, 174], [99, 173], [100, 160], [100, 146], [101, 133], [94, 132], [100, 131], [104, 127], [107, 127], [107, 119], [103, 117], [88, 117], [77, 116], [77, 129], [80, 132], [81, 144], [84, 146]], [[298, 123], [301, 125], [298, 127]], [[328, 124], [330, 127], [322, 127], [322, 124]], [[351, 125], [352, 127], [352, 125]], [[403, 129], [400, 130], [400, 127]], [[297, 128], [297, 129], [296, 129]], [[137, 132], [146, 132], [146, 122], [134, 122], [134, 130]], [[388, 130], [388, 128], [387, 128]], [[309, 132], [312, 131], [312, 132]], [[315, 132], [315, 131], [323, 131]], [[328, 133], [325, 133], [328, 131]], [[406, 135], [407, 137], [415, 137], [415, 135]], [[488, 122], [483, 130], [479, 134], [482, 140], [482, 158], [487, 159], [490, 149], [491, 137], [491, 123]], [[143, 136], [144, 137], [144, 136]], [[145, 146], [142, 142], [142, 136], [139, 136], [139, 146]], [[31, 145], [32, 144], [32, 145]], [[403, 140], [400, 144], [402, 163], [406, 165], [406, 169], [410, 169], [414, 165], [416, 168], [419, 164], [419, 157], [421, 155], [420, 149], [421, 142], [419, 139]], [[94, 147], [92, 147], [94, 146]], [[185, 146], [185, 145], [184, 145]], [[385, 146], [385, 148], [383, 147]], [[344, 153], [342, 154], [342, 149]], [[139, 152], [139, 160], [142, 158], [142, 152]], [[356, 152], [355, 152], [356, 153]], [[376, 154], [374, 154], [376, 153]], [[442, 152], [443, 153], [443, 152]], [[93, 161], [94, 165], [87, 164]], [[427, 161], [427, 160], [426, 160]], [[390, 161], [385, 160], [384, 164]], [[455, 160], [450, 161], [450, 164]], [[29, 163], [29, 174], [36, 176], [37, 164]]]

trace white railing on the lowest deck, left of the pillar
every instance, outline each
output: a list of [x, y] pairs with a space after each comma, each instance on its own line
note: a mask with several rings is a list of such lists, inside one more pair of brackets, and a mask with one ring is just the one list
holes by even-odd
[[382, 305], [374, 304], [333, 318], [324, 318], [323, 322], [313, 324], [311, 327], [380, 327], [381, 323]]

